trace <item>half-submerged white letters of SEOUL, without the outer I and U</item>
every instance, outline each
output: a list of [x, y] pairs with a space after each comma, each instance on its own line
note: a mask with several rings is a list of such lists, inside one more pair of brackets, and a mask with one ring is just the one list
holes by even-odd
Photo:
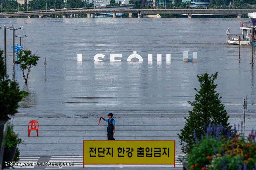
[[[100, 60], [99, 57], [104, 58], [105, 55], [104, 54], [96, 54], [94, 56], [94, 61], [103, 61]], [[116, 58], [122, 58], [122, 54], [110, 54], [110, 61], [111, 62], [117, 62], [117, 61], [121, 61], [121, 60], [116, 60]], [[129, 55], [129, 57], [127, 58], [127, 61], [130, 62], [132, 61], [133, 58], [137, 58], [139, 61], [143, 61], [143, 58], [137, 54], [137, 51], [133, 51], [133, 54]], [[148, 54], [148, 62], [152, 62], [153, 61], [153, 54]], [[161, 62], [162, 61], [162, 54], [157, 54], [157, 62]], [[166, 61], [171, 61], [171, 54], [166, 54]]]

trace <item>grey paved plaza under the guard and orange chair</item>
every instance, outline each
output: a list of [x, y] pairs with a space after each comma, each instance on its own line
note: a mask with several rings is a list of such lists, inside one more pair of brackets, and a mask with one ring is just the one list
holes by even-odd
[[[10, 122], [14, 125], [14, 131], [19, 134], [19, 137], [26, 144], [19, 145], [20, 162], [73, 162], [74, 166], [66, 168], [82, 168], [83, 140], [107, 139], [107, 122], [101, 120], [100, 125], [98, 125], [99, 116], [87, 116], [23, 117], [22, 115], [16, 115], [13, 117]], [[150, 116], [153, 118], [148, 118]], [[107, 118], [107, 116], [105, 117]], [[177, 135], [185, 125], [185, 119], [181, 117], [182, 115], [114, 115], [113, 118], [116, 120], [114, 137], [116, 140], [175, 140], [175, 157], [177, 159], [183, 156], [180, 153], [179, 137]], [[36, 137], [36, 131], [31, 131], [31, 137], [28, 137], [28, 122], [30, 120], [39, 122], [39, 137]], [[231, 118], [229, 118], [231, 125], [241, 124], [241, 121], [241, 115], [231, 115]], [[249, 134], [252, 128], [256, 129], [256, 119], [251, 115], [250, 118], [246, 119], [245, 133]], [[125, 168], [127, 166], [129, 167], [129, 165], [90, 165], [85, 167]], [[176, 160], [176, 167], [181, 168], [181, 166]], [[154, 168], [153, 165], [138, 165], [136, 167]], [[173, 165], [157, 167], [172, 168]], [[56, 166], [44, 165], [16, 168], [41, 169], [56, 168]]]

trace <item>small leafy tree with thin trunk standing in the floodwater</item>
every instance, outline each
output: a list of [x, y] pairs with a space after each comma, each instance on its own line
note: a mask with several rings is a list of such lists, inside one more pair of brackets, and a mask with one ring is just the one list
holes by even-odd
[[[25, 84], [28, 83], [28, 75], [33, 66], [36, 66], [37, 61], [39, 60], [39, 56], [35, 54], [31, 54], [30, 50], [20, 51], [17, 57], [19, 60], [15, 62], [15, 64], [20, 64], [20, 68], [23, 72], [23, 78], [25, 80]], [[28, 70], [27, 73], [24, 73], [25, 70]], [[26, 76], [25, 76], [26, 74]]]

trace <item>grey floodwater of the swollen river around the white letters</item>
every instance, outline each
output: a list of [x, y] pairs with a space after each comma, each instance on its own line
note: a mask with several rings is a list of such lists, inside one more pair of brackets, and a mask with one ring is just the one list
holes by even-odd
[[[12, 31], [7, 30], [7, 74], [31, 93], [20, 102], [22, 115], [188, 114], [188, 100], [199, 88], [196, 75], [216, 71], [216, 90], [228, 114], [242, 113], [247, 95], [246, 112], [254, 115], [251, 46], [241, 47], [239, 59], [238, 46], [226, 44], [228, 27], [241, 34], [242, 21], [248, 18], [0, 18], [0, 26], [23, 26], [24, 47], [41, 56], [25, 86], [19, 66], [12, 66]], [[0, 37], [3, 50], [3, 29]], [[143, 62], [126, 61], [133, 51]], [[189, 57], [197, 51], [198, 62], [183, 63], [183, 51]], [[83, 62], [77, 62], [78, 53]], [[94, 62], [97, 53], [105, 55], [103, 62]], [[110, 54], [122, 54], [122, 61], [110, 62]]]

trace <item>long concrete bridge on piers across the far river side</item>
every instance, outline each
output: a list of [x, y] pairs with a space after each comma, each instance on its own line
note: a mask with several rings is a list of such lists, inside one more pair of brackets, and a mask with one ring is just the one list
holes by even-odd
[[[248, 13], [256, 12], [256, 10], [209, 10], [209, 9], [196, 9], [196, 10], [185, 10], [185, 9], [127, 9], [132, 8], [133, 5], [111, 7], [108, 8], [76, 8], [76, 9], [60, 9], [52, 11], [22, 11], [22, 12], [10, 12], [2, 13], [0, 16], [9, 18], [14, 16], [34, 16], [38, 15], [39, 18], [45, 15], [62, 15], [63, 18], [67, 14], [87, 14], [87, 17], [94, 17], [95, 13], [113, 13], [113, 18], [116, 17], [116, 13], [129, 13], [129, 17], [132, 16], [132, 13], [138, 13], [138, 17], [141, 17], [141, 14], [186, 14], [188, 18], [191, 18], [192, 15], [235, 15], [237, 18], [241, 18], [242, 14], [247, 15]], [[124, 9], [126, 8], [126, 9]]]

